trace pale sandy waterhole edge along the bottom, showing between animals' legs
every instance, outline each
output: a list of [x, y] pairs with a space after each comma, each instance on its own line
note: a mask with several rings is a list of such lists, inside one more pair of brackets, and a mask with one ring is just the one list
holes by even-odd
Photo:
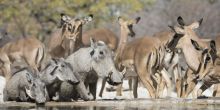
[[[99, 80], [97, 96], [101, 87]], [[128, 89], [127, 80], [123, 88]], [[212, 90], [207, 90], [206, 95]], [[115, 92], [104, 91], [103, 97], [96, 101], [47, 102], [44, 106], [36, 106], [29, 102], [0, 103], [0, 110], [216, 110], [220, 109], [220, 98], [180, 99], [173, 93], [170, 98], [150, 99], [145, 88], [138, 88], [138, 99], [133, 98], [132, 91], [124, 91], [120, 99], [115, 99]], [[164, 93], [166, 94], [166, 93]]]

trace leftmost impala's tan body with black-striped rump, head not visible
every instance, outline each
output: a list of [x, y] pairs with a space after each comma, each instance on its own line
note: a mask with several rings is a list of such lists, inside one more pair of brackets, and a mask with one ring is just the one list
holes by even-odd
[[25, 61], [30, 67], [38, 70], [45, 57], [44, 45], [35, 37], [12, 41], [0, 48], [1, 70], [6, 79], [10, 78], [11, 64], [14, 61]]

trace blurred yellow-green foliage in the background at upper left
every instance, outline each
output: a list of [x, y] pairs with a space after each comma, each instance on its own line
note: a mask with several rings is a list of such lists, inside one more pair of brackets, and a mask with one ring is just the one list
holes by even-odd
[[59, 24], [60, 13], [94, 15], [94, 25], [140, 11], [154, 0], [0, 0], [0, 26], [16, 36], [43, 39]]

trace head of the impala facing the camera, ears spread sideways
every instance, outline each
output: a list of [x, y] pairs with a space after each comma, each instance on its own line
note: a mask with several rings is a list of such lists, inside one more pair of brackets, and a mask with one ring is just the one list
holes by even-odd
[[76, 37], [82, 34], [82, 26], [93, 19], [93, 15], [84, 18], [71, 18], [65, 14], [61, 14], [61, 27], [65, 38], [76, 40]]

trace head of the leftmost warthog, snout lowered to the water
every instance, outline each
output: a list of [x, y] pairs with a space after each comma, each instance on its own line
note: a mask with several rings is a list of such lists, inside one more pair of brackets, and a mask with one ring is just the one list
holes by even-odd
[[[34, 75], [35, 74], [35, 75]], [[45, 83], [40, 79], [37, 73], [26, 73], [28, 87], [25, 87], [27, 95], [35, 100], [37, 104], [44, 104], [46, 102], [48, 93]], [[34, 77], [35, 76], [35, 77]]]

